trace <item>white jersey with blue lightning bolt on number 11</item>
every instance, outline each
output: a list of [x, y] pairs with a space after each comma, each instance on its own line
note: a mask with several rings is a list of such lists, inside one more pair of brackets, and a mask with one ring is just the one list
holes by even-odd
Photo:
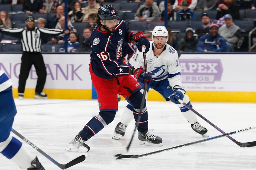
[[[154, 55], [153, 41], [150, 41], [149, 51], [146, 53], [148, 72], [153, 80], [160, 81], [168, 78], [172, 88], [175, 85], [181, 86], [180, 64], [177, 51], [166, 44], [164, 51], [160, 55]], [[136, 51], [129, 62], [135, 69], [140, 66], [144, 68], [143, 54]]]

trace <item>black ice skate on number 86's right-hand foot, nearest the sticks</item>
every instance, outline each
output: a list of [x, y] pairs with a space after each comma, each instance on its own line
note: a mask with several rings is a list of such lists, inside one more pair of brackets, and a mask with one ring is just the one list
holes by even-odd
[[147, 131], [142, 132], [142, 131], [138, 131], [139, 132], [139, 140], [141, 145], [147, 145], [147, 146], [153, 146], [153, 145], [157, 145], [157, 146], [163, 146], [162, 144], [162, 138], [158, 137], [156, 135], [152, 135], [151, 133]]

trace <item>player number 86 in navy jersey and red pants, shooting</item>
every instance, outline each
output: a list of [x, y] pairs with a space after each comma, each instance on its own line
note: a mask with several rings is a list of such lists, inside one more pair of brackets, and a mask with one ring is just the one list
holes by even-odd
[[[128, 31], [126, 23], [119, 21], [118, 12], [112, 5], [100, 7], [90, 41], [92, 46], [89, 70], [92, 83], [98, 95], [100, 113], [94, 116], [76, 135], [68, 147], [70, 152], [86, 152], [90, 147], [86, 141], [114, 120], [118, 108], [117, 94], [122, 95], [132, 106], [133, 116], [137, 120], [142, 101], [141, 86], [136, 81], [152, 80], [150, 74], [140, 68], [123, 64], [123, 45], [136, 42], [140, 52], [145, 45], [148, 52], [149, 41], [142, 32]], [[134, 79], [132, 75], [135, 75]], [[145, 99], [144, 99], [145, 100]], [[148, 111], [144, 104], [138, 126], [140, 144], [161, 145], [162, 138], [148, 132]]]

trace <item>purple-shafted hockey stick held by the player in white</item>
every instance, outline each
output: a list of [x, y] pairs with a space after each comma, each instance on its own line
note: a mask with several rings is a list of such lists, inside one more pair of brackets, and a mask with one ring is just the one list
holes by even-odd
[[[191, 110], [192, 112], [194, 112], [196, 115], [198, 115], [199, 117], [201, 117], [202, 119], [204, 119], [207, 123], [209, 123], [210, 125], [212, 125], [215, 129], [219, 130], [222, 134], [225, 134], [225, 132], [223, 130], [221, 130], [220, 128], [218, 128], [216, 125], [214, 125], [212, 122], [210, 122], [208, 119], [206, 119], [204, 116], [200, 115], [196, 110], [194, 110], [192, 107], [188, 106], [185, 102], [183, 102], [182, 100], [178, 100], [180, 103], [182, 103], [185, 107], [187, 107], [189, 110]], [[252, 142], [238, 142], [236, 141], [233, 137], [227, 136], [230, 140], [232, 140], [233, 142], [235, 142], [238, 146], [240, 147], [252, 147], [252, 146], [256, 146], [256, 141], [252, 141]]]

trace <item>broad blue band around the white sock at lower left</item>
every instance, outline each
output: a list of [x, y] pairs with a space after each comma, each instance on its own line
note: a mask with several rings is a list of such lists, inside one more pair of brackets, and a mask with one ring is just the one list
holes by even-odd
[[11, 142], [4, 148], [4, 150], [1, 152], [6, 158], [12, 159], [16, 155], [16, 153], [20, 150], [22, 143], [16, 139], [15, 137], [12, 137]]

